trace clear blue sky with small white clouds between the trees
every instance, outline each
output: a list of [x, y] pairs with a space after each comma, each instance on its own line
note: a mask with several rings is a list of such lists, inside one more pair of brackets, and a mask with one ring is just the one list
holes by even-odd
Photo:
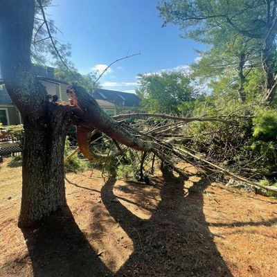
[[53, 0], [48, 19], [62, 30], [58, 37], [72, 47], [71, 60], [80, 73], [105, 69], [102, 88], [132, 92], [136, 76], [162, 70], [186, 69], [204, 46], [181, 38], [178, 26], [162, 28], [156, 0]]

